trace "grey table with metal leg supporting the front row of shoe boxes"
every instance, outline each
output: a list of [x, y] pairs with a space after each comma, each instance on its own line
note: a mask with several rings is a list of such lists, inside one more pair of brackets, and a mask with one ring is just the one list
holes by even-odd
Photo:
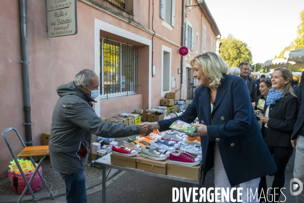
[[[200, 185], [201, 180], [192, 180], [192, 179], [181, 178], [181, 177], [176, 177], [176, 176], [151, 173], [151, 172], [147, 172], [147, 171], [138, 170], [136, 168], [129, 168], [129, 167], [124, 167], [124, 166], [119, 166], [119, 165], [113, 165], [113, 164], [111, 164], [110, 154], [107, 154], [107, 155], [97, 159], [96, 161], [94, 161], [94, 164], [99, 165], [102, 170], [102, 202], [105, 202], [105, 179], [106, 179], [105, 168], [106, 167], [115, 168], [115, 169], [121, 170], [121, 171], [133, 172], [136, 174], [141, 174], [141, 175], [146, 175], [146, 176], [154, 176], [154, 177], [158, 177], [158, 178], [165, 178], [165, 179], [181, 181], [181, 182], [186, 182], [186, 183], [193, 183], [195, 185], [199, 185], [199, 187], [201, 186]], [[197, 186], [194, 186], [194, 187], [197, 187]]]

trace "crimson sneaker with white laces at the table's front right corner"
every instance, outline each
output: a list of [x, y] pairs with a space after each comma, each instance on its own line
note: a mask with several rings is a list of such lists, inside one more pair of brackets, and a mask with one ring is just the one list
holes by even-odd
[[173, 164], [195, 166], [201, 164], [202, 159], [196, 158], [191, 154], [181, 151], [179, 153], [170, 153], [169, 162]]

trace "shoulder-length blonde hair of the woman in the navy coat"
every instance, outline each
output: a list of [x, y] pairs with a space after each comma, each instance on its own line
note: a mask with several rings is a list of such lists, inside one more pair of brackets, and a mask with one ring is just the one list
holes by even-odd
[[220, 86], [220, 80], [223, 78], [222, 75], [229, 70], [227, 63], [217, 53], [212, 51], [193, 57], [190, 60], [191, 66], [193, 66], [195, 61], [202, 66], [206, 78], [211, 80], [209, 85], [215, 88]]

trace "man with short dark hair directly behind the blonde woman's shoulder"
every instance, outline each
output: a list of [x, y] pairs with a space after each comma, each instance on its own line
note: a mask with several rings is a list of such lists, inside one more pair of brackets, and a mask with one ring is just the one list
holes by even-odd
[[244, 79], [247, 87], [248, 87], [248, 90], [249, 90], [249, 96], [250, 96], [250, 101], [251, 103], [253, 101], [256, 100], [256, 86], [255, 86], [255, 82], [253, 80], [253, 78], [251, 78], [249, 76], [249, 69], [250, 69], [250, 66], [249, 66], [249, 63], [248, 62], [241, 62], [239, 64], [239, 69], [240, 69], [240, 76]]

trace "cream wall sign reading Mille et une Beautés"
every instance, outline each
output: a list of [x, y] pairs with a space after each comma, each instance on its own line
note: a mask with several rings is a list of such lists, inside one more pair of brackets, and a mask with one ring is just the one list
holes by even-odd
[[48, 37], [77, 34], [77, 0], [46, 0]]

